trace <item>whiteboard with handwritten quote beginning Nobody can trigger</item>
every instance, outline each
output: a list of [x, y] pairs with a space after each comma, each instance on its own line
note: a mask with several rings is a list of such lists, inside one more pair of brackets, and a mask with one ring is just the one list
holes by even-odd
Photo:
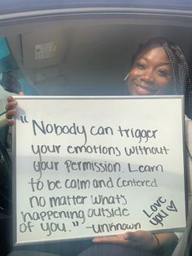
[[181, 96], [15, 99], [15, 245], [185, 227]]

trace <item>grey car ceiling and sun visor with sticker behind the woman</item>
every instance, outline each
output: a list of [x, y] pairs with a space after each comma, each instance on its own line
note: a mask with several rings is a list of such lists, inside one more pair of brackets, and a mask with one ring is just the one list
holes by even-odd
[[181, 45], [191, 66], [190, 24], [175, 19], [98, 15], [13, 25], [5, 35], [15, 62], [9, 74], [24, 76], [37, 95], [121, 94], [133, 53], [148, 38]]

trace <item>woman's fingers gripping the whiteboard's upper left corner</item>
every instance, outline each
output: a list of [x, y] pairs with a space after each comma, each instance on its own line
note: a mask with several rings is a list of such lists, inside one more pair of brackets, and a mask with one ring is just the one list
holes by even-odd
[[[24, 95], [23, 91], [20, 91], [20, 95]], [[17, 101], [12, 96], [9, 96], [7, 98], [7, 105], [5, 107], [6, 110], [7, 110], [7, 113], [6, 113], [7, 123], [9, 125], [14, 124], [14, 121], [13, 121], [12, 117], [16, 113], [16, 105], [17, 105]]]

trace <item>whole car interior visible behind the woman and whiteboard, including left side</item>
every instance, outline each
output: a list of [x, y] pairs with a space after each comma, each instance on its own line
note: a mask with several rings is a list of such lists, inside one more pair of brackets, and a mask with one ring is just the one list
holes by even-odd
[[[0, 20], [2, 142], [11, 151], [7, 95], [125, 95], [132, 56], [149, 38], [180, 45], [192, 77], [191, 18], [174, 11], [81, 11]], [[4, 247], [2, 256], [9, 252]]]

